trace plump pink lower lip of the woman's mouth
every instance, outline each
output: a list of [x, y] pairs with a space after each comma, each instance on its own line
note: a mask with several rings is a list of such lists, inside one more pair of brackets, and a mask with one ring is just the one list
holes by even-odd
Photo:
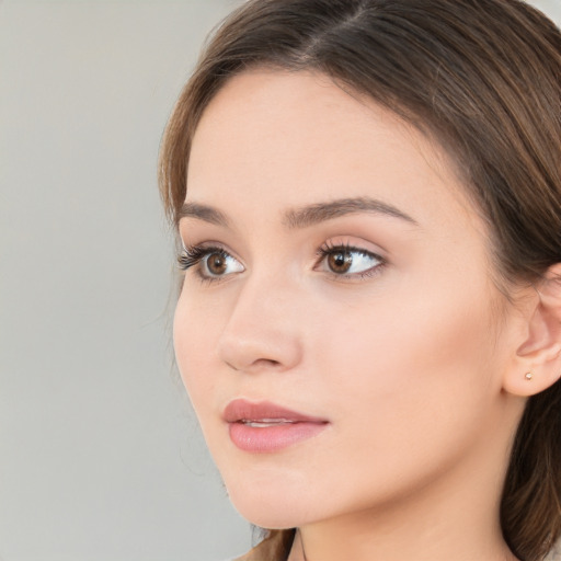
[[230, 439], [243, 451], [266, 454], [288, 448], [321, 433], [328, 423], [282, 423], [274, 426], [250, 426], [230, 423]]

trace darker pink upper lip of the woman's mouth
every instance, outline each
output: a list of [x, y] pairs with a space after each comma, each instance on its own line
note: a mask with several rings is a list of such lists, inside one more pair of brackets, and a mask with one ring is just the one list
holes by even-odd
[[325, 419], [298, 413], [270, 401], [251, 402], [244, 399], [230, 401], [222, 416], [227, 423], [283, 421], [324, 424], [328, 422]]

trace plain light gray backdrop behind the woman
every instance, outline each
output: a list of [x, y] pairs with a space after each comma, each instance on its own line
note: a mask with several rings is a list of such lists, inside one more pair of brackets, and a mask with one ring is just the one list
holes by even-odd
[[173, 369], [156, 186], [172, 104], [237, 3], [0, 0], [0, 560], [250, 547]]

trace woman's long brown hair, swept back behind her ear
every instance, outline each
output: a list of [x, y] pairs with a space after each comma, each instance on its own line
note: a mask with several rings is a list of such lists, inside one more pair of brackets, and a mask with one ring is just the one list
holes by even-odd
[[[561, 33], [519, 0], [250, 0], [204, 51], [169, 122], [161, 194], [173, 221], [191, 140], [215, 93], [254, 66], [311, 69], [447, 149], [489, 224], [504, 286], [561, 262]], [[528, 400], [501, 505], [525, 561], [561, 535], [561, 383]]]

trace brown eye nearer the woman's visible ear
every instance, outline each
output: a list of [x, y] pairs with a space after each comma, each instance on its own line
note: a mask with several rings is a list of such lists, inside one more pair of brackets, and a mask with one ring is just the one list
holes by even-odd
[[348, 245], [323, 247], [319, 254], [319, 268], [339, 276], [369, 276], [385, 264], [380, 255]]

